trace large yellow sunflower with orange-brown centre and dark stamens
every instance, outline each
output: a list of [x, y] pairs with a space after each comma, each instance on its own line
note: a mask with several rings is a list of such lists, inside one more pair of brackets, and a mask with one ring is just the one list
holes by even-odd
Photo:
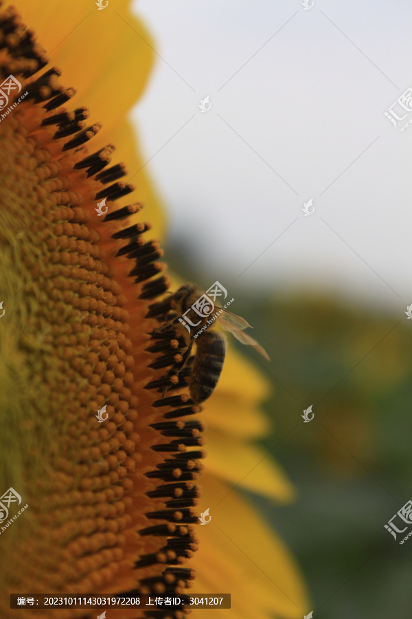
[[[124, 120], [150, 74], [150, 36], [126, 0], [115, 14], [79, 5], [48, 0], [40, 13], [21, 0], [25, 21], [8, 3], [0, 7], [0, 494], [12, 489], [27, 505], [7, 524], [0, 506], [8, 566], [1, 616], [27, 615], [8, 609], [12, 592], [172, 595], [196, 587], [231, 593], [231, 610], [221, 611], [231, 617], [299, 618], [307, 602], [293, 560], [231, 490], [293, 497], [281, 471], [248, 444], [264, 432], [258, 404], [267, 385], [229, 355], [206, 407], [202, 474], [201, 407], [184, 373], [166, 376], [180, 344], [157, 336], [170, 281], [159, 243], [146, 239], [150, 228], [162, 235], [161, 211]], [[57, 14], [65, 34], [54, 28]], [[113, 138], [138, 173], [137, 202], [121, 180], [126, 166], [112, 162]], [[198, 526], [199, 501], [216, 504], [207, 527]]]

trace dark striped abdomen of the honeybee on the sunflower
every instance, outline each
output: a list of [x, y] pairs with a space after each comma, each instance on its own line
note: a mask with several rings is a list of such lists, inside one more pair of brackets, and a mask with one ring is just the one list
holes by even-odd
[[225, 338], [216, 332], [203, 332], [196, 339], [196, 356], [190, 380], [190, 397], [195, 404], [210, 398], [225, 362]]

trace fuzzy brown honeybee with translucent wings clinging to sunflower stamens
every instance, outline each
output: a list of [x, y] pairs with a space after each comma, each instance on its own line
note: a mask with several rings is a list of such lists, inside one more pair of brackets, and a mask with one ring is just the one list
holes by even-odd
[[[199, 302], [201, 302], [200, 305]], [[194, 303], [198, 306], [197, 311], [192, 307]], [[216, 313], [211, 317], [214, 309]], [[174, 355], [170, 363], [172, 367], [170, 367], [166, 378], [174, 377], [174, 384], [176, 385], [176, 380], [183, 376], [185, 382], [189, 384], [190, 397], [195, 404], [205, 402], [214, 392], [225, 362], [225, 336], [213, 329], [207, 329], [215, 320], [242, 344], [253, 346], [264, 358], [270, 360], [264, 348], [251, 336], [244, 333], [244, 329], [251, 326], [244, 318], [231, 314], [223, 307], [217, 305], [214, 305], [214, 308], [211, 307], [209, 297], [206, 294], [201, 294], [192, 284], [181, 286], [165, 301], [153, 303], [150, 306], [148, 316], [162, 316], [163, 320], [167, 321], [165, 325], [152, 332], [152, 337], [159, 339], [170, 337], [172, 339], [174, 336], [176, 338], [174, 342], [177, 342], [177, 344], [174, 344], [174, 347], [175, 350], [177, 348], [178, 354]], [[196, 352], [193, 357], [191, 353], [194, 343], [196, 344]], [[157, 347], [151, 349], [159, 350], [160, 348], [157, 345]], [[170, 355], [169, 357], [166, 356], [165, 360], [168, 360], [168, 358], [170, 358]], [[162, 365], [157, 367], [162, 367]], [[163, 398], [168, 389], [170, 387], [164, 387]]]

